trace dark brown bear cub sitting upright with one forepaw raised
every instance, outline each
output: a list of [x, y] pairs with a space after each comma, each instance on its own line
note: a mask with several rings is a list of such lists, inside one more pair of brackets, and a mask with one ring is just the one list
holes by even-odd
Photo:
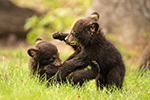
[[[85, 78], [94, 79], [97, 76], [98, 68], [92, 61], [96, 61], [100, 66], [100, 76], [98, 86], [109, 87], [116, 85], [121, 88], [125, 76], [125, 65], [118, 49], [105, 38], [98, 24], [99, 14], [94, 12], [91, 16], [76, 21], [69, 34], [59, 32], [53, 33], [55, 39], [64, 40], [73, 47], [81, 47], [80, 52], [66, 60], [59, 68], [57, 80], [65, 80], [66, 76], [80, 68], [90, 65], [93, 74], [80, 72]], [[77, 76], [77, 75], [76, 75]]]

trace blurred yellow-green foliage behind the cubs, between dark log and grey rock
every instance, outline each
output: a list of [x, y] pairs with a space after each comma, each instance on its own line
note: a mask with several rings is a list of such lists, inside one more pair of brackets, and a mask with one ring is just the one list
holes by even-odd
[[92, 0], [12, 0], [14, 3], [41, 12], [41, 16], [28, 18], [24, 28], [32, 29], [27, 41], [34, 43], [37, 37], [50, 40], [54, 31], [64, 32], [92, 5]]

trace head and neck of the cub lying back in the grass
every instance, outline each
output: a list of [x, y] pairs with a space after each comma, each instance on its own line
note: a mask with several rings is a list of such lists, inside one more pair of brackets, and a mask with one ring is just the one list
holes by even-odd
[[31, 57], [30, 75], [35, 75], [37, 72], [39, 77], [43, 77], [46, 74], [48, 80], [56, 74], [62, 61], [55, 45], [40, 38], [37, 38], [35, 42], [35, 48], [30, 48], [27, 51]]

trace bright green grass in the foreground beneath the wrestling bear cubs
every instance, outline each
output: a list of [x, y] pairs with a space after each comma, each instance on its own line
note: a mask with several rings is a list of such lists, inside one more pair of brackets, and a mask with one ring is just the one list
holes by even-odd
[[[64, 55], [62, 55], [64, 56]], [[63, 58], [65, 59], [65, 57]], [[131, 70], [125, 59], [126, 76], [123, 89], [110, 92], [96, 90], [95, 81], [83, 87], [58, 84], [47, 87], [37, 78], [29, 77], [29, 56], [24, 49], [0, 50], [0, 100], [149, 100], [150, 71], [143, 76]]]

